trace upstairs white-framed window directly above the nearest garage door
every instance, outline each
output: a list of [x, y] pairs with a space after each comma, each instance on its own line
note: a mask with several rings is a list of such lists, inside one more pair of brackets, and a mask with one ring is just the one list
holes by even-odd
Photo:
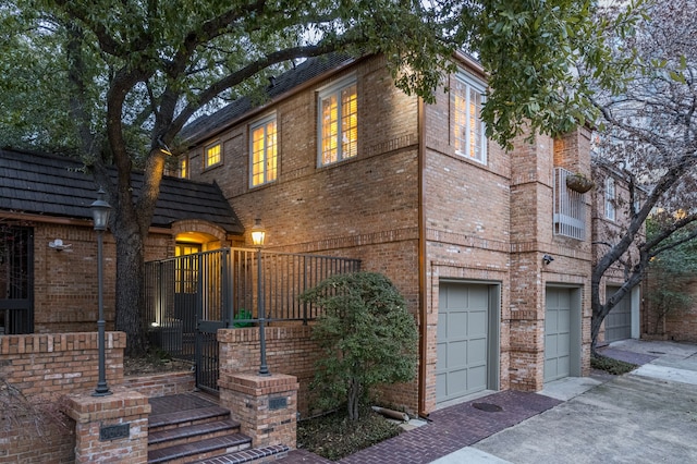
[[453, 144], [457, 155], [487, 163], [487, 139], [481, 121], [486, 86], [462, 72], [455, 75], [451, 88], [453, 102]]

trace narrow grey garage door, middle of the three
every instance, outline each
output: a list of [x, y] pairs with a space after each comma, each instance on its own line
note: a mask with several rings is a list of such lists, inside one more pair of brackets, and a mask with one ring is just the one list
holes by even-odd
[[545, 308], [545, 381], [571, 371], [571, 291], [547, 289]]

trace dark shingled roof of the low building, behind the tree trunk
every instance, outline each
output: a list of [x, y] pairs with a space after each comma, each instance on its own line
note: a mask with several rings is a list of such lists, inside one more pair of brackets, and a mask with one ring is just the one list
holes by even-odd
[[[142, 173], [134, 172], [137, 191]], [[81, 161], [0, 149], [0, 210], [91, 219], [89, 205], [97, 198], [91, 175]], [[244, 228], [216, 184], [185, 179], [162, 179], [152, 225], [170, 227], [183, 219], [212, 222], [229, 233]]]

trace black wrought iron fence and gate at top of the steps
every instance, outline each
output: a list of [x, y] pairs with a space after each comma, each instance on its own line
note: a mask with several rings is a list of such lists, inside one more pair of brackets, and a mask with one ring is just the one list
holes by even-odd
[[150, 342], [173, 357], [192, 361], [197, 387], [217, 391], [218, 329], [257, 323], [259, 296], [265, 302], [267, 323], [307, 323], [317, 317], [318, 308], [298, 296], [330, 276], [358, 270], [357, 259], [249, 248], [223, 248], [147, 262]]

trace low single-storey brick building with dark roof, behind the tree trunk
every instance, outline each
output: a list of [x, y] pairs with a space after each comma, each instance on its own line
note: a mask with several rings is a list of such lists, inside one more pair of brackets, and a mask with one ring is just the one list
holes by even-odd
[[[97, 190], [77, 160], [0, 149], [0, 334], [96, 329], [97, 244], [89, 205]], [[229, 245], [242, 232], [216, 185], [166, 178], [146, 259], [174, 256], [191, 240]], [[115, 244], [109, 233], [103, 256], [105, 316], [112, 329]]]

